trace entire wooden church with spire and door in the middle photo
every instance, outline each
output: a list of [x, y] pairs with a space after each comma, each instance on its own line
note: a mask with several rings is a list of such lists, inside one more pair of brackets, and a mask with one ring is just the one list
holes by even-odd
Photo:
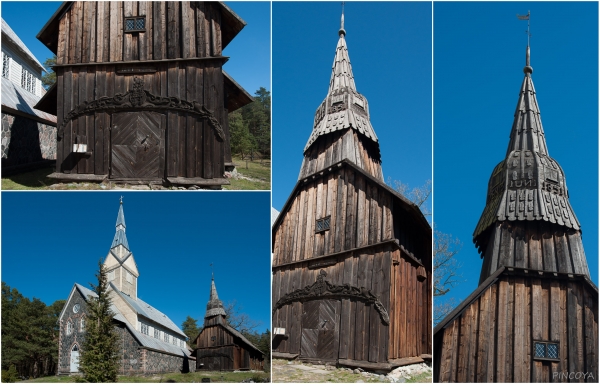
[[[431, 227], [383, 182], [343, 16], [339, 35], [299, 180], [272, 228], [272, 356], [390, 370], [431, 353]], [[329, 229], [317, 233], [316, 220]], [[317, 317], [326, 330], [303, 327]]]

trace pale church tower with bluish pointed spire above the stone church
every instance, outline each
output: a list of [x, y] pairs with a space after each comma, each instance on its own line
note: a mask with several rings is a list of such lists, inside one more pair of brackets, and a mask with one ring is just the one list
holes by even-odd
[[123, 198], [119, 203], [115, 237], [110, 251], [104, 260], [108, 274], [108, 282], [112, 283], [119, 291], [133, 299], [137, 299], [137, 279], [140, 276], [133, 253], [129, 250], [127, 236], [125, 235], [125, 214], [123, 213]]

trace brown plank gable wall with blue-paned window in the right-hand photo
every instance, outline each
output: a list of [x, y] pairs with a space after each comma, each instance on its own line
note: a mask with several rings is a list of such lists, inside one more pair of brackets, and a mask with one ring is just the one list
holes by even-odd
[[[559, 361], [534, 359], [534, 340], [559, 342]], [[595, 382], [598, 293], [582, 279], [501, 274], [434, 343], [436, 382]]]

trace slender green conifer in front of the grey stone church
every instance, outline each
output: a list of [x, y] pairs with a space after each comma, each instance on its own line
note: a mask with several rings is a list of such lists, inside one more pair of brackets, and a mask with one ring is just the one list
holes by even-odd
[[85, 340], [81, 348], [79, 370], [91, 383], [116, 382], [119, 370], [117, 334], [110, 310], [106, 268], [98, 261], [98, 285], [90, 284], [97, 297], [88, 297]]

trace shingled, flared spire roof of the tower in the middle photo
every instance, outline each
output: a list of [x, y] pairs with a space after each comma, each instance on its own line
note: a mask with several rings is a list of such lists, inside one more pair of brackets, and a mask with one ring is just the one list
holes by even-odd
[[329, 90], [325, 100], [317, 108], [313, 131], [304, 147], [304, 152], [306, 153], [320, 136], [351, 128], [372, 140], [377, 146], [377, 155], [379, 156], [377, 135], [369, 120], [369, 104], [366, 97], [358, 93], [354, 83], [352, 65], [346, 46], [343, 14], [339, 35]]

